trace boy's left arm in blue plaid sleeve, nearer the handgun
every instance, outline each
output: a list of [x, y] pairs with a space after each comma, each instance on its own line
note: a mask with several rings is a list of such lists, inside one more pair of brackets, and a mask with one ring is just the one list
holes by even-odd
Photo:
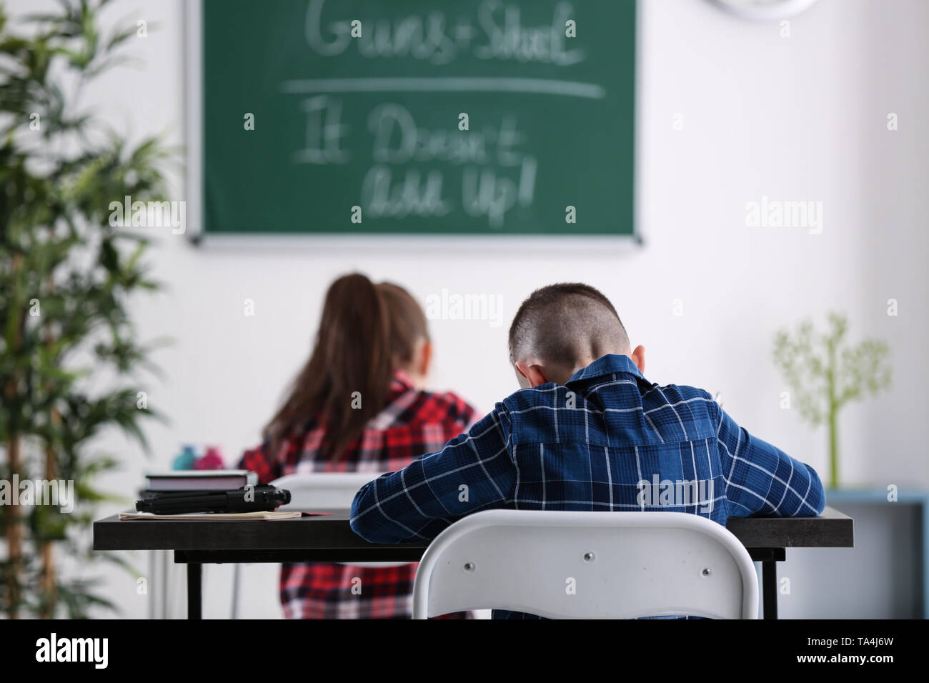
[[502, 403], [436, 453], [355, 494], [351, 528], [372, 543], [430, 540], [452, 521], [508, 500], [516, 482]]

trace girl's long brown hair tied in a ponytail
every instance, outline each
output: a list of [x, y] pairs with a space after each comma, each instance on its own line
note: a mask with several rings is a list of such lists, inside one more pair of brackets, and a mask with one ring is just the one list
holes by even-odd
[[265, 427], [270, 454], [316, 418], [324, 425], [321, 457], [340, 459], [384, 409], [394, 371], [412, 361], [420, 338], [428, 338], [423, 309], [402, 287], [359, 273], [333, 282], [313, 352]]

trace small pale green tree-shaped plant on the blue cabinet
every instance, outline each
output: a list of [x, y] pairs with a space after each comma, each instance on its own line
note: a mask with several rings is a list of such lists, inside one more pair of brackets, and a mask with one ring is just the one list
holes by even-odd
[[874, 396], [891, 383], [887, 345], [866, 339], [852, 346], [847, 333], [847, 318], [830, 313], [825, 334], [818, 334], [807, 321], [795, 335], [779, 331], [774, 342], [775, 363], [791, 386], [800, 415], [814, 427], [828, 427], [832, 488], [839, 485], [839, 412], [849, 401], [865, 393]]

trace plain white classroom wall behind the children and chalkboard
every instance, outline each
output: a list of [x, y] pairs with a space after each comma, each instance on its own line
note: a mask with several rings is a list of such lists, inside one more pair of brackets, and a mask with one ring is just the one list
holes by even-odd
[[[10, 3], [14, 14], [34, 0]], [[135, 135], [164, 130], [185, 140], [181, 2], [118, 3], [110, 20], [159, 28], [131, 49], [144, 64], [108, 76], [91, 94]], [[922, 341], [926, 324], [929, 215], [929, 3], [819, 0], [779, 26], [737, 20], [703, 0], [641, 3], [638, 131], [641, 249], [617, 254], [529, 256], [479, 243], [464, 253], [436, 245], [408, 253], [318, 253], [194, 247], [165, 236], [151, 255], [170, 291], [139, 299], [143, 337], [170, 335], [159, 352], [164, 382], [142, 387], [169, 427], [150, 427], [155, 457], [125, 448], [124, 471], [105, 482], [133, 491], [146, 467], [166, 467], [182, 441], [222, 446], [229, 462], [258, 438], [285, 382], [307, 356], [321, 293], [360, 269], [405, 284], [421, 300], [443, 287], [499, 294], [504, 325], [432, 323], [434, 384], [478, 407], [516, 388], [505, 361], [508, 321], [536, 286], [582, 280], [619, 309], [634, 344], [648, 348], [647, 376], [722, 391], [745, 427], [826, 473], [825, 434], [779, 409], [786, 390], [772, 359], [775, 331], [830, 309], [846, 311], [852, 335], [892, 349], [894, 388], [850, 407], [841, 425], [845, 482], [929, 486]], [[684, 129], [674, 131], [674, 113]], [[888, 112], [899, 130], [888, 132]], [[749, 229], [745, 204], [761, 195], [824, 204], [824, 229]], [[177, 198], [184, 198], [178, 178]], [[255, 197], [254, 201], [261, 201]], [[255, 317], [242, 301], [255, 300]], [[673, 315], [675, 298], [685, 315]], [[899, 316], [886, 315], [896, 298]], [[118, 447], [116, 436], [106, 445]], [[110, 506], [108, 514], [118, 509]], [[145, 560], [137, 558], [145, 569]], [[133, 579], [107, 574], [111, 599], [129, 616], [146, 602]], [[229, 567], [206, 574], [204, 614], [228, 616]], [[180, 574], [178, 574], [180, 576]], [[274, 616], [275, 571], [245, 570], [244, 615]], [[171, 599], [182, 612], [182, 592]]]

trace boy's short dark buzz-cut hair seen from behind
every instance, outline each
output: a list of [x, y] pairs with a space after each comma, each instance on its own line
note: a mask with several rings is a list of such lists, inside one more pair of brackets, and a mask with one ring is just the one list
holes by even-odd
[[628, 353], [629, 336], [606, 296], [582, 282], [535, 290], [517, 310], [509, 335], [510, 362], [536, 356], [573, 363], [583, 357]]

